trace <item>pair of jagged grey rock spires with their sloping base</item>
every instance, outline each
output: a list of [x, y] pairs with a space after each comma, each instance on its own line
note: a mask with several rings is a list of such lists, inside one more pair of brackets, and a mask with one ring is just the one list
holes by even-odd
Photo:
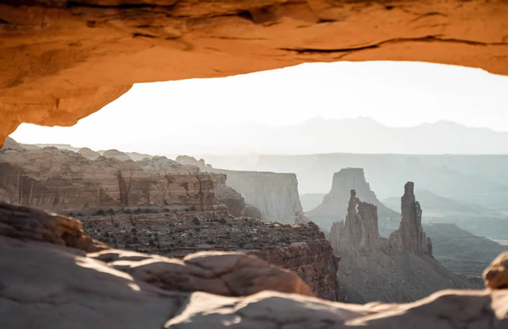
[[341, 256], [341, 301], [409, 302], [439, 289], [482, 288], [475, 278], [453, 274], [432, 257], [413, 186], [404, 186], [400, 228], [389, 239], [377, 230], [377, 207], [350, 191], [346, 220], [333, 223], [329, 237], [333, 251]]

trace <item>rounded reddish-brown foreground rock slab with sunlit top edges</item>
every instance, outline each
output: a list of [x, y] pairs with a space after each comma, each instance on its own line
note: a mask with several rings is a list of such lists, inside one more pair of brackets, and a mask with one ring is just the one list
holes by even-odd
[[111, 249], [89, 257], [164, 290], [222, 296], [274, 290], [313, 296], [296, 273], [239, 252], [197, 252], [179, 260]]

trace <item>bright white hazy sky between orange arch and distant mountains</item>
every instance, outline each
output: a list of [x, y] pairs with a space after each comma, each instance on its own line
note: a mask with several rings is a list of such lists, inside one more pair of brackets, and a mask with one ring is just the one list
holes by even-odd
[[508, 77], [429, 63], [309, 63], [134, 85], [75, 126], [22, 124], [11, 136], [96, 150], [209, 153], [214, 134], [236, 122], [292, 125], [316, 116], [372, 117], [387, 126], [446, 119], [508, 131]]

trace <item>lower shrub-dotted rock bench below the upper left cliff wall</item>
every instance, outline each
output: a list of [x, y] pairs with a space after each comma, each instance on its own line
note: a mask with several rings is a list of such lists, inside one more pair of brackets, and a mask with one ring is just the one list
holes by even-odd
[[94, 239], [135, 250], [183, 258], [200, 251], [242, 251], [296, 272], [316, 296], [338, 300], [337, 258], [309, 225], [267, 223], [248, 217], [206, 218], [202, 212], [82, 216]]

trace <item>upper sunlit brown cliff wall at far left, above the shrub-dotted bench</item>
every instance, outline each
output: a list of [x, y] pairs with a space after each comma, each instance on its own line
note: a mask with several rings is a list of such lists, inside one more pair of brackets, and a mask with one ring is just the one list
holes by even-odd
[[[52, 210], [215, 207], [213, 174], [182, 174], [180, 169], [173, 173], [169, 166], [158, 167], [160, 161], [136, 163], [104, 156], [89, 160], [55, 147], [0, 151], [0, 194], [12, 202]], [[156, 170], [160, 168], [164, 173]]]

